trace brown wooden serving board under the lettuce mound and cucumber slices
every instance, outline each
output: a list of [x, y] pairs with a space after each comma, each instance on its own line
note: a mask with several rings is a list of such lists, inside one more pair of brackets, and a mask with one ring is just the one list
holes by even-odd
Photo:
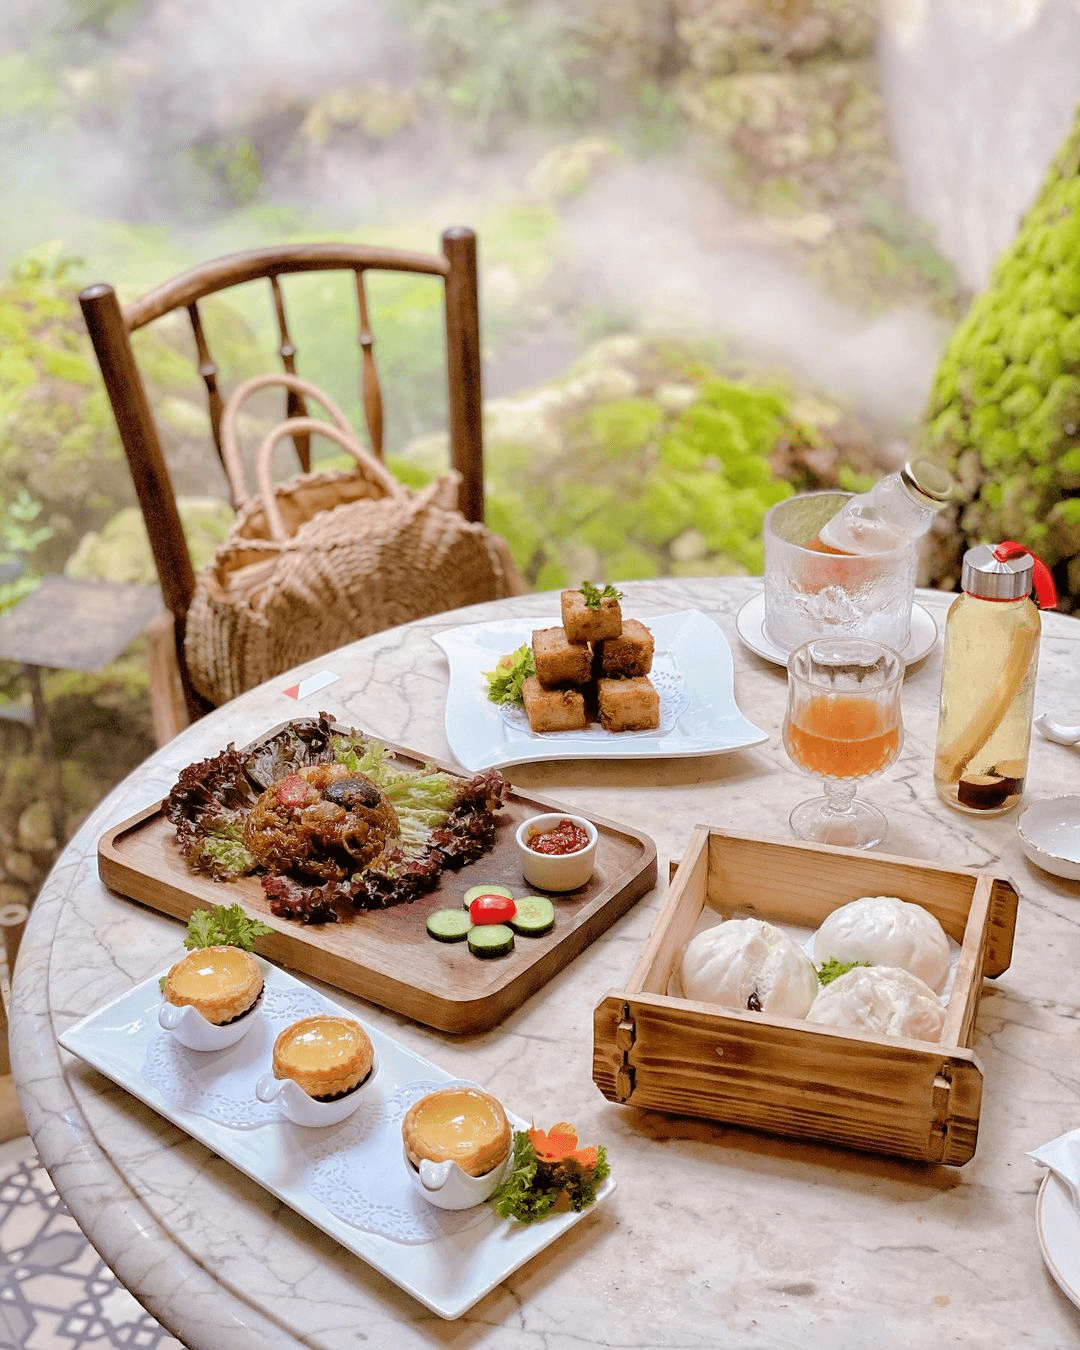
[[[400, 763], [418, 768], [450, 764], [389, 747]], [[656, 882], [656, 846], [645, 834], [590, 815], [599, 842], [587, 886], [566, 896], [551, 895], [555, 929], [545, 937], [516, 937], [504, 957], [473, 956], [467, 942], [436, 942], [425, 922], [432, 910], [459, 906], [478, 883], [502, 883], [516, 896], [535, 890], [518, 864], [514, 833], [521, 821], [541, 811], [566, 810], [558, 802], [508, 788], [498, 814], [495, 845], [458, 871], [443, 872], [439, 886], [412, 905], [356, 914], [344, 923], [304, 925], [270, 913], [258, 876], [215, 882], [192, 872], [181, 857], [162, 803], [113, 826], [97, 846], [97, 869], [111, 890], [150, 909], [186, 921], [209, 905], [242, 905], [274, 929], [256, 950], [277, 965], [312, 975], [339, 990], [402, 1013], [440, 1031], [482, 1031], [568, 965]], [[575, 809], [575, 814], [582, 813]], [[177, 959], [182, 954], [180, 946]]]

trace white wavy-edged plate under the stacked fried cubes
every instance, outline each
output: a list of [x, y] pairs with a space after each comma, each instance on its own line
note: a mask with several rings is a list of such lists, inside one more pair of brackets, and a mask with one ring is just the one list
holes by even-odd
[[447, 741], [471, 774], [528, 760], [720, 755], [768, 740], [736, 705], [726, 637], [697, 609], [645, 621], [656, 643], [651, 678], [660, 691], [659, 730], [605, 732], [595, 724], [586, 732], [531, 730], [520, 707], [502, 709], [487, 698], [483, 672], [528, 643], [533, 629], [559, 622], [495, 620], [435, 634], [450, 663]]

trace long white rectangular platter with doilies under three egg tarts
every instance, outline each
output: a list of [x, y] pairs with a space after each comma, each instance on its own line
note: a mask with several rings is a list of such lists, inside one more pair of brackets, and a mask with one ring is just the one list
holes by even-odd
[[[275, 1103], [258, 1102], [255, 1081], [269, 1068], [278, 1030], [313, 1013], [346, 1013], [285, 971], [259, 964], [266, 977], [259, 1023], [228, 1050], [185, 1050], [163, 1031], [157, 979], [85, 1017], [59, 1044], [440, 1318], [459, 1318], [589, 1215], [586, 1210], [518, 1224], [486, 1204], [462, 1214], [428, 1204], [405, 1173], [401, 1116], [423, 1092], [458, 1080], [370, 1025], [377, 1073], [359, 1089], [363, 1103], [342, 1125], [304, 1129], [281, 1116]], [[525, 1127], [508, 1115], [514, 1129]], [[608, 1177], [597, 1203], [613, 1191]]]

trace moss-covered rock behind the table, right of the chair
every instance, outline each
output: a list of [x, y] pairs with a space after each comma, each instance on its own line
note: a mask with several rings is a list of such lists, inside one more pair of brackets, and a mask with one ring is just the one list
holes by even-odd
[[[760, 572], [768, 508], [836, 483], [833, 431], [819, 436], [783, 386], [724, 373], [714, 356], [609, 338], [562, 379], [486, 406], [487, 522], [531, 586]], [[431, 437], [408, 454], [446, 462]]]

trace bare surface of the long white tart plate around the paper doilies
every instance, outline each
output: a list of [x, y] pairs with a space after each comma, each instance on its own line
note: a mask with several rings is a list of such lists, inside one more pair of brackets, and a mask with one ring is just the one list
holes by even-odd
[[[265, 968], [267, 991], [304, 992], [324, 1004], [328, 1011], [351, 1015], [285, 971], [265, 961], [261, 964]], [[205, 1143], [208, 1149], [239, 1168], [252, 1181], [258, 1181], [297, 1214], [310, 1219], [343, 1247], [381, 1270], [440, 1318], [459, 1318], [509, 1274], [591, 1212], [591, 1210], [585, 1210], [582, 1214], [571, 1211], [533, 1224], [518, 1224], [500, 1219], [490, 1206], [485, 1206], [483, 1215], [473, 1226], [424, 1242], [397, 1242], [354, 1227], [302, 1185], [302, 1169], [296, 1165], [301, 1141], [306, 1142], [321, 1131], [304, 1130], [285, 1119], [258, 1129], [232, 1129], [176, 1106], [146, 1081], [142, 1069], [147, 1045], [151, 1037], [163, 1034], [158, 1029], [159, 1007], [158, 980], [146, 980], [77, 1022], [59, 1037], [59, 1044], [178, 1125], [192, 1138]], [[456, 1081], [452, 1075], [413, 1054], [393, 1037], [367, 1023], [364, 1026], [378, 1057], [378, 1073], [364, 1091], [378, 1091], [389, 1098], [409, 1083]], [[242, 1041], [240, 1045], [243, 1044]], [[208, 1069], [212, 1068], [215, 1057], [215, 1053], [207, 1056]], [[254, 1077], [267, 1068], [267, 1064], [252, 1065], [252, 1083]], [[510, 1119], [516, 1129], [522, 1127], [520, 1119], [513, 1115]], [[393, 1150], [393, 1157], [374, 1161], [387, 1168], [405, 1166], [400, 1149]], [[608, 1177], [599, 1189], [597, 1203], [605, 1200], [613, 1191], [614, 1181]]]

